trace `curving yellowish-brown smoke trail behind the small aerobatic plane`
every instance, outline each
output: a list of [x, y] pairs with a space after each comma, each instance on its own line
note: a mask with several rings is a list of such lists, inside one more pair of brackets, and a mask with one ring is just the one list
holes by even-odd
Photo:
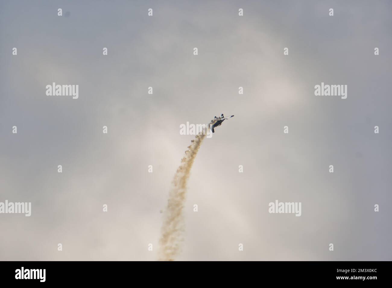
[[[212, 125], [216, 120], [211, 120]], [[207, 129], [209, 129], [207, 125]], [[181, 159], [172, 182], [172, 189], [169, 192], [169, 201], [165, 212], [165, 220], [162, 226], [162, 235], [160, 238], [160, 259], [161, 261], [173, 261], [174, 257], [180, 253], [181, 232], [183, 231], [183, 207], [187, 193], [187, 182], [191, 173], [193, 161], [197, 152], [206, 136], [206, 130], [203, 134], [198, 134], [192, 140], [185, 156]]]

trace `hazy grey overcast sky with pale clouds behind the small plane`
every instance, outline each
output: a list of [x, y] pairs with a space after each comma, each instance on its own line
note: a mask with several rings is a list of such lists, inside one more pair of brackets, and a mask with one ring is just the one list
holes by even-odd
[[[0, 214], [0, 260], [155, 261], [193, 139], [180, 125], [221, 113], [235, 117], [194, 162], [178, 260], [392, 260], [391, 9], [1, 1], [0, 202], [32, 211]], [[53, 82], [79, 98], [47, 96]], [[321, 82], [347, 99], [315, 96]], [[275, 200], [301, 216], [270, 214]]]

